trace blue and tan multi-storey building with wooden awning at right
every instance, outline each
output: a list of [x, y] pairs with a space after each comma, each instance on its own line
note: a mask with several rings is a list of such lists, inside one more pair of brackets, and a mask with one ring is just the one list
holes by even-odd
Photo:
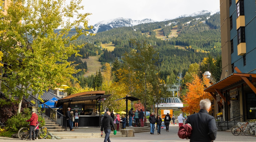
[[[226, 121], [256, 119], [255, 0], [220, 0], [221, 80], [205, 89]], [[219, 113], [220, 114], [220, 113]]]

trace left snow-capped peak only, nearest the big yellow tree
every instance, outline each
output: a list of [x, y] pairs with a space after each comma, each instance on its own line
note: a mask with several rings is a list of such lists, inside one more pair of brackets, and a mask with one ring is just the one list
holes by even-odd
[[92, 32], [97, 33], [97, 32], [107, 31], [116, 27], [125, 27], [125, 26], [129, 27], [129, 26], [135, 26], [142, 23], [152, 23], [152, 22], [157, 22], [157, 21], [154, 21], [152, 19], [132, 20], [130, 18], [119, 17], [119, 18], [96, 23], [94, 25], [94, 28], [92, 29]]

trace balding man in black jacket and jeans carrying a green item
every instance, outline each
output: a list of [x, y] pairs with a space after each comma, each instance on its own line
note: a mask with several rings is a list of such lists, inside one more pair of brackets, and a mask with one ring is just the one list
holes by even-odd
[[111, 127], [113, 127], [113, 129], [115, 130], [114, 121], [113, 121], [112, 117], [110, 116], [110, 112], [107, 111], [106, 115], [102, 119], [101, 129], [100, 129], [100, 131], [102, 133], [103, 128], [104, 128], [104, 133], [105, 133], [104, 142], [106, 142], [106, 141], [110, 142], [109, 135], [110, 135], [110, 132], [111, 132]]

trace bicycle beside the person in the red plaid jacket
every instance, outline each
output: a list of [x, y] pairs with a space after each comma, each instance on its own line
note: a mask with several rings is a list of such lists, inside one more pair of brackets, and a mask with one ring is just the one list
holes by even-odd
[[[43, 122], [43, 121], [40, 121]], [[38, 122], [38, 124], [36, 125], [36, 127], [38, 126], [39, 131], [38, 131], [38, 136], [40, 137], [40, 139], [45, 139], [48, 136], [48, 129], [46, 127], [42, 127], [40, 122]], [[20, 128], [18, 131], [18, 137], [19, 139], [27, 139], [29, 137], [29, 130], [26, 127]]]

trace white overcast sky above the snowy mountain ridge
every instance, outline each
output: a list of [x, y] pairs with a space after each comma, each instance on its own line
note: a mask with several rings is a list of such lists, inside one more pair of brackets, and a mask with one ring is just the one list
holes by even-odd
[[118, 17], [163, 21], [201, 10], [215, 11], [220, 8], [219, 0], [82, 0], [82, 4], [82, 13], [92, 13], [88, 16], [88, 25]]

